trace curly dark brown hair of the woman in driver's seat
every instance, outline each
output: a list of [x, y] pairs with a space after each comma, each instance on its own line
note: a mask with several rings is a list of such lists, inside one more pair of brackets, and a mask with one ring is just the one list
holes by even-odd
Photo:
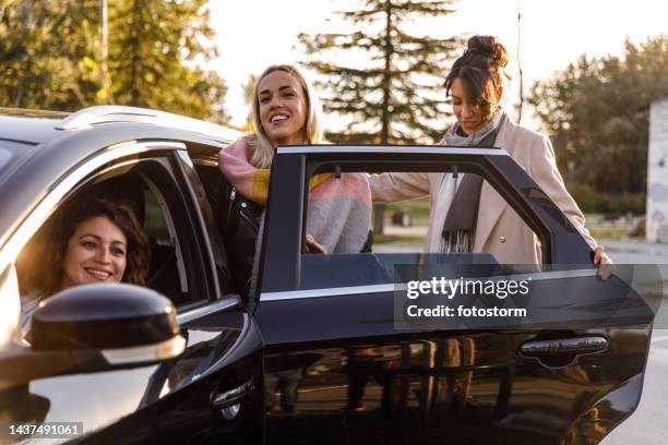
[[[26, 256], [33, 257], [33, 264], [22, 264], [31, 288], [38, 289], [45, 296], [62, 290], [62, 263], [70, 238], [82, 222], [99, 216], [118, 226], [128, 239], [127, 266], [121, 281], [140, 286], [146, 284], [151, 248], [148, 237], [132, 211], [107, 200], [83, 195], [58, 208], [32, 241], [32, 253]], [[22, 258], [22, 263], [27, 261], [27, 257]]]

